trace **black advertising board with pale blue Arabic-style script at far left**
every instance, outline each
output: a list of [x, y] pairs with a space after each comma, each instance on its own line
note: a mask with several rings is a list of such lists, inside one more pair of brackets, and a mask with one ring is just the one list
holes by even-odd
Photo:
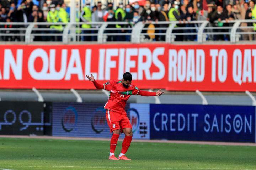
[[43, 102], [0, 102], [1, 135], [44, 135], [50, 119]]

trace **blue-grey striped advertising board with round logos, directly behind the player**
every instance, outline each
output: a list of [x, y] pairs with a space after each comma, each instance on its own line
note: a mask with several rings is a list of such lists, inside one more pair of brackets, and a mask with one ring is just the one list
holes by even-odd
[[[105, 103], [52, 104], [53, 136], [110, 138]], [[129, 104], [126, 111], [129, 117]], [[122, 135], [121, 137], [124, 137]]]

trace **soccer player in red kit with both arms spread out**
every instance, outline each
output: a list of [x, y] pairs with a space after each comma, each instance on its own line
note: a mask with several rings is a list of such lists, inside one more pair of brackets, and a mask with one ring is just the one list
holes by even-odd
[[[141, 95], [141, 96], [161, 96], [164, 92], [159, 89], [157, 92], [149, 92], [139, 90], [132, 83], [132, 74], [126, 72], [123, 74], [122, 80], [110, 80], [107, 83], [99, 84], [94, 79], [93, 75], [86, 75], [86, 77], [93, 82], [97, 89], [105, 89], [110, 91], [110, 96], [105, 104], [106, 109], [106, 119], [108, 126], [110, 127], [110, 132], [113, 135], [110, 140], [110, 155], [108, 159], [110, 160], [131, 160], [128, 159], [124, 154], [130, 147], [132, 141], [132, 125], [127, 117], [124, 110], [126, 101], [131, 95]], [[117, 141], [120, 136], [120, 132], [125, 134], [122, 150], [118, 158], [115, 157], [114, 151], [116, 149]]]

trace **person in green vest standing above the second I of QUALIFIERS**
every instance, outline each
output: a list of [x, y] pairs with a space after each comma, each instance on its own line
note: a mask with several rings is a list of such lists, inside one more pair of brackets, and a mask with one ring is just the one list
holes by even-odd
[[[126, 12], [123, 10], [123, 1], [119, 1], [119, 6], [115, 12], [116, 21], [123, 22], [125, 16], [126, 16]], [[125, 26], [116, 24], [116, 28], [123, 28], [123, 27]], [[124, 30], [118, 30], [118, 33], [124, 33]], [[124, 35], [117, 36], [117, 41], [124, 41], [124, 40], [125, 40]]]

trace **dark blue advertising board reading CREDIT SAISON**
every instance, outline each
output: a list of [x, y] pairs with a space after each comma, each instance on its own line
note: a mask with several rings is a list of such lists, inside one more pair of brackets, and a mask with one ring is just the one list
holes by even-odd
[[150, 104], [150, 139], [255, 143], [255, 106]]

